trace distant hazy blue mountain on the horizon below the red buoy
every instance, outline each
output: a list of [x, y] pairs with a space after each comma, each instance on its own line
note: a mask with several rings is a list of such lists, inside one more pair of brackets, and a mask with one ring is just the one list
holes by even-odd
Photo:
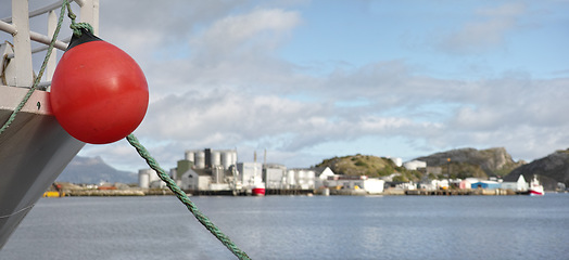
[[97, 157], [75, 156], [63, 172], [58, 177], [58, 182], [71, 182], [81, 184], [99, 184], [100, 182], [138, 182], [137, 173], [119, 171]]

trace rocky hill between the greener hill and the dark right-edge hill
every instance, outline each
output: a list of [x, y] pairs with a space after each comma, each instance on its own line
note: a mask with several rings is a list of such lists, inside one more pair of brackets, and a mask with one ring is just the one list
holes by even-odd
[[452, 150], [416, 159], [426, 161], [428, 167], [446, 168], [450, 165], [451, 172], [459, 178], [503, 177], [526, 164], [514, 161], [504, 147], [481, 151], [476, 148]]

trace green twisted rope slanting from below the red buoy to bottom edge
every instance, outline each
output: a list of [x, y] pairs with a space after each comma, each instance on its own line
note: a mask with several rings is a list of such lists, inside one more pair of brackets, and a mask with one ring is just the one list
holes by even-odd
[[231, 242], [231, 239], [229, 239], [227, 235], [225, 235], [212, 221], [210, 221], [210, 219], [205, 214], [203, 214], [198, 209], [198, 207], [190, 200], [188, 195], [186, 195], [186, 193], [184, 193], [178, 187], [178, 185], [176, 185], [176, 182], [172, 180], [172, 178], [169, 178], [166, 171], [164, 171], [164, 169], [160, 167], [156, 160], [150, 155], [147, 148], [144, 148], [144, 146], [140, 144], [140, 142], [134, 134], [129, 134], [128, 136], [126, 136], [126, 139], [128, 140], [130, 145], [132, 145], [137, 150], [138, 154], [140, 154], [140, 156], [147, 160], [150, 168], [156, 171], [160, 179], [162, 179], [166, 183], [166, 186], [168, 186], [168, 188], [174, 192], [176, 197], [178, 197], [178, 199], [181, 203], [184, 203], [184, 205], [186, 205], [188, 210], [190, 210], [190, 212], [193, 213], [195, 219], [198, 219], [198, 221], [200, 221], [200, 223], [202, 223], [202, 225], [205, 226], [207, 231], [210, 231], [217, 239], [219, 239], [222, 244], [224, 244], [227, 247], [227, 249], [229, 249], [237, 258], [250, 259], [244, 251], [239, 249], [237, 245], [233, 242]]

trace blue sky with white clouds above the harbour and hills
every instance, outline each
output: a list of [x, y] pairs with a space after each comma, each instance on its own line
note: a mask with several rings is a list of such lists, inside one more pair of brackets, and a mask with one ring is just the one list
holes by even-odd
[[[245, 161], [266, 150], [288, 167], [461, 147], [531, 161], [569, 147], [569, 1], [100, 5], [100, 37], [146, 73], [135, 133], [164, 168], [205, 147]], [[125, 141], [80, 155], [146, 168]]]

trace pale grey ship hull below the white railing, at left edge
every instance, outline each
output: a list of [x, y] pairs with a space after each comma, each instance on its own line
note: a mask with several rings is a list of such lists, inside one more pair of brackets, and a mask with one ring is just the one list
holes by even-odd
[[[0, 86], [2, 125], [27, 91]], [[58, 123], [49, 93], [35, 91], [0, 134], [0, 248], [84, 145]]]

